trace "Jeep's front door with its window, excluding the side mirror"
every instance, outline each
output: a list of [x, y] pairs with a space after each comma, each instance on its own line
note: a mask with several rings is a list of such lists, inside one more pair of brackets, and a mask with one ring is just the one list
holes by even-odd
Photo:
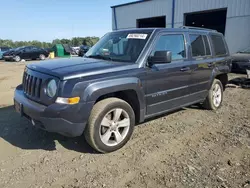
[[172, 62], [153, 64], [148, 68], [146, 81], [146, 117], [186, 105], [189, 100], [191, 61], [184, 33], [163, 33], [158, 36], [150, 56], [156, 51], [171, 51]]

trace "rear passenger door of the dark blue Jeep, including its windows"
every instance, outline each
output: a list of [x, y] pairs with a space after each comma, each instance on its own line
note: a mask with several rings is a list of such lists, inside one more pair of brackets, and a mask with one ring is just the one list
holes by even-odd
[[202, 100], [207, 96], [216, 58], [212, 56], [209, 38], [204, 33], [190, 33], [192, 76], [190, 91], [192, 100]]

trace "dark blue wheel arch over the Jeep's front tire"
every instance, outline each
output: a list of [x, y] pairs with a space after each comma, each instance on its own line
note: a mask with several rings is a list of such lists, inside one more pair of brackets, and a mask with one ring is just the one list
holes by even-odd
[[136, 122], [144, 121], [145, 94], [138, 78], [119, 78], [90, 84], [83, 92], [82, 99], [94, 104], [100, 100], [116, 97], [126, 101], [134, 110]]

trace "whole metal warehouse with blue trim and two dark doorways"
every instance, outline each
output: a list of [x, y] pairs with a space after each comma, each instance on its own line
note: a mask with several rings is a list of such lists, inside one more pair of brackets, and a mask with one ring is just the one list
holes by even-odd
[[143, 0], [111, 8], [113, 30], [204, 27], [222, 32], [231, 53], [250, 46], [250, 0]]

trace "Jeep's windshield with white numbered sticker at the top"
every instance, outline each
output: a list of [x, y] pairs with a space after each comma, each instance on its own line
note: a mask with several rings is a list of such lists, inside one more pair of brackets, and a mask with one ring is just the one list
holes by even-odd
[[84, 57], [136, 62], [152, 31], [118, 31], [106, 34]]

